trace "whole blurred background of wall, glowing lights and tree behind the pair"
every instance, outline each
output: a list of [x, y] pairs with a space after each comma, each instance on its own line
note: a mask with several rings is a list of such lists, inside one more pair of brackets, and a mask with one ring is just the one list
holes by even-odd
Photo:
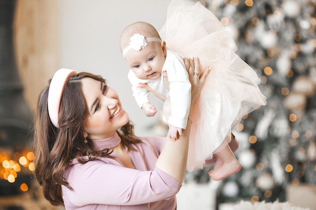
[[[193, 0], [192, 0], [193, 1]], [[195, 1], [196, 2], [196, 1]], [[316, 206], [316, 1], [205, 0], [257, 73], [268, 104], [234, 130], [240, 172], [187, 173], [180, 210], [232, 209], [241, 200]], [[107, 79], [137, 135], [165, 135], [162, 113], [145, 117], [132, 97], [119, 37], [135, 21], [160, 29], [170, 0], [0, 0], [0, 210], [63, 209], [32, 178], [32, 119], [40, 90], [59, 68]], [[163, 103], [152, 97], [162, 110]], [[192, 207], [191, 207], [192, 206]]]

